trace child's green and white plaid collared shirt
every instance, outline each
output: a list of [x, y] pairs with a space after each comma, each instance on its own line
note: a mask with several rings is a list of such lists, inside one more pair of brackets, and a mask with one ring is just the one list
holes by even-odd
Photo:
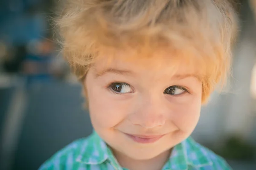
[[[39, 170], [125, 170], [110, 148], [94, 132], [58, 151]], [[191, 137], [177, 144], [162, 170], [231, 170], [220, 156]]]

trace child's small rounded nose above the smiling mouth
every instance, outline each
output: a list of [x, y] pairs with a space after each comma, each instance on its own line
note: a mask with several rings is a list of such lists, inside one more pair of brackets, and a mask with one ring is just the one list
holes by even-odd
[[144, 128], [163, 126], [166, 122], [166, 107], [160, 99], [146, 99], [137, 102], [137, 108], [129, 115], [129, 120], [134, 125]]

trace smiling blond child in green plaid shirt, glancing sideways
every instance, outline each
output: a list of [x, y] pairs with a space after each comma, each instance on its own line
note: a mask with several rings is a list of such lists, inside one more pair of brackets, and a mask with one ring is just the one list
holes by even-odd
[[57, 21], [94, 132], [40, 170], [230, 170], [189, 137], [230, 69], [227, 0], [69, 0]]

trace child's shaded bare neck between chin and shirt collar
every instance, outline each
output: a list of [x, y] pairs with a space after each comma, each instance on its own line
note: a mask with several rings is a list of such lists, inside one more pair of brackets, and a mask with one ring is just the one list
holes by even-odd
[[123, 153], [113, 152], [119, 164], [128, 170], [161, 170], [170, 157], [171, 150], [147, 160], [136, 160], [125, 156]]

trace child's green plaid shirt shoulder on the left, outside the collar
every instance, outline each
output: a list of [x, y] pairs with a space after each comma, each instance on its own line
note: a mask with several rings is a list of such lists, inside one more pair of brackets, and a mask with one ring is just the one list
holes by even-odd
[[84, 145], [90, 142], [90, 137], [78, 139], [68, 144], [63, 149], [55, 153], [50, 159], [39, 167], [39, 170], [71, 170], [75, 169], [76, 159], [81, 153]]

